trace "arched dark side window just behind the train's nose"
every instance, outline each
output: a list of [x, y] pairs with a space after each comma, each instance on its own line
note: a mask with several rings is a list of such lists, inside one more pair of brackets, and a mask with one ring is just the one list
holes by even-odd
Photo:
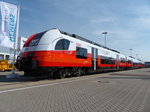
[[61, 39], [56, 43], [55, 50], [68, 50], [70, 41], [66, 39]]

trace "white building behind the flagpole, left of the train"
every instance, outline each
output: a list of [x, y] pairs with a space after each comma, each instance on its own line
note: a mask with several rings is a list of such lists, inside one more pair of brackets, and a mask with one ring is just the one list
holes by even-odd
[[[24, 43], [26, 42], [27, 38], [19, 37], [16, 41], [16, 55], [20, 52], [23, 48]], [[10, 62], [14, 59], [14, 50], [12, 48], [0, 46], [0, 60], [6, 59]]]

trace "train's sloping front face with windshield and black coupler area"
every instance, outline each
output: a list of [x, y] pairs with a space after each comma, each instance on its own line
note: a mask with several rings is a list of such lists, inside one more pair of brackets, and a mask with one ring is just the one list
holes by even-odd
[[38, 60], [35, 59], [36, 47], [45, 32], [32, 35], [24, 44], [17, 57], [16, 68], [24, 71], [25, 75], [31, 70], [37, 70]]

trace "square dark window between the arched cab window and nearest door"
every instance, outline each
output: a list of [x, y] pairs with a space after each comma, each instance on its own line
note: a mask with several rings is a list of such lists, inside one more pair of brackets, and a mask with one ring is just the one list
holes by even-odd
[[76, 58], [87, 59], [87, 49], [76, 47]]

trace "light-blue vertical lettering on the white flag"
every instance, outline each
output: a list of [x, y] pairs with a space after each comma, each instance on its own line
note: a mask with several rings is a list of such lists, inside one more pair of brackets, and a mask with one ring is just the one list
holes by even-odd
[[15, 32], [15, 15], [10, 14], [9, 39], [11, 42], [15, 41], [14, 32]]

